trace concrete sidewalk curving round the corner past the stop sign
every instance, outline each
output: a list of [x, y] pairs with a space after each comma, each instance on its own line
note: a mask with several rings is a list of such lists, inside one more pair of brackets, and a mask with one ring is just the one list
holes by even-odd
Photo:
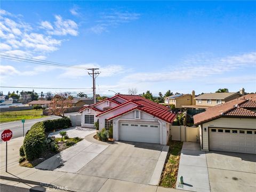
[[[90, 140], [90, 139], [88, 139]], [[1, 145], [1, 183], [16, 186], [44, 186], [46, 188], [65, 188], [69, 191], [154, 191], [168, 192], [179, 191], [172, 188], [163, 188], [154, 185], [121, 181], [109, 178], [94, 177], [91, 175], [70, 173], [66, 171], [44, 171], [35, 168], [19, 166], [19, 148], [23, 137], [12, 139], [8, 142], [8, 172], [5, 172], [5, 142]], [[93, 141], [92, 139], [90, 141]], [[89, 142], [89, 141], [86, 141]], [[97, 141], [95, 140], [95, 143]], [[70, 150], [75, 146], [70, 147]], [[74, 161], [74, 163], [76, 163]], [[97, 167], [95, 167], [97, 169]], [[7, 180], [11, 180], [8, 182]], [[9, 183], [9, 184], [8, 184]], [[25, 184], [29, 183], [29, 185]], [[47, 191], [47, 190], [46, 190]]]

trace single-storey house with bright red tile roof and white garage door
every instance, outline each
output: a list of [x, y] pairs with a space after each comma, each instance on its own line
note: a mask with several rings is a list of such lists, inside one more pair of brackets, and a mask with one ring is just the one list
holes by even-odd
[[92, 106], [85, 106], [82, 126], [99, 130], [113, 126], [114, 140], [167, 144], [169, 127], [175, 119], [165, 106], [149, 101], [139, 95], [117, 94]]

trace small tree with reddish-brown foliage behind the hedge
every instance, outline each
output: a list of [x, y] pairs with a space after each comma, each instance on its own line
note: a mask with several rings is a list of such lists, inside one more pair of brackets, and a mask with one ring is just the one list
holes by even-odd
[[65, 108], [72, 106], [72, 98], [67, 94], [56, 94], [49, 104], [50, 114], [65, 117]]

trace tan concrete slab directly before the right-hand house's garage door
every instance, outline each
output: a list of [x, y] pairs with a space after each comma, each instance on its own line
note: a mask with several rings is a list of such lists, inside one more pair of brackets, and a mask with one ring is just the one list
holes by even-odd
[[211, 191], [255, 191], [256, 155], [206, 153]]

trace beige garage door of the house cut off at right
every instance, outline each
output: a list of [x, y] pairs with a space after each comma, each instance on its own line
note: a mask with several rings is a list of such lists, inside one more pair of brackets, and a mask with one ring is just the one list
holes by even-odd
[[256, 130], [210, 128], [210, 150], [256, 154]]

